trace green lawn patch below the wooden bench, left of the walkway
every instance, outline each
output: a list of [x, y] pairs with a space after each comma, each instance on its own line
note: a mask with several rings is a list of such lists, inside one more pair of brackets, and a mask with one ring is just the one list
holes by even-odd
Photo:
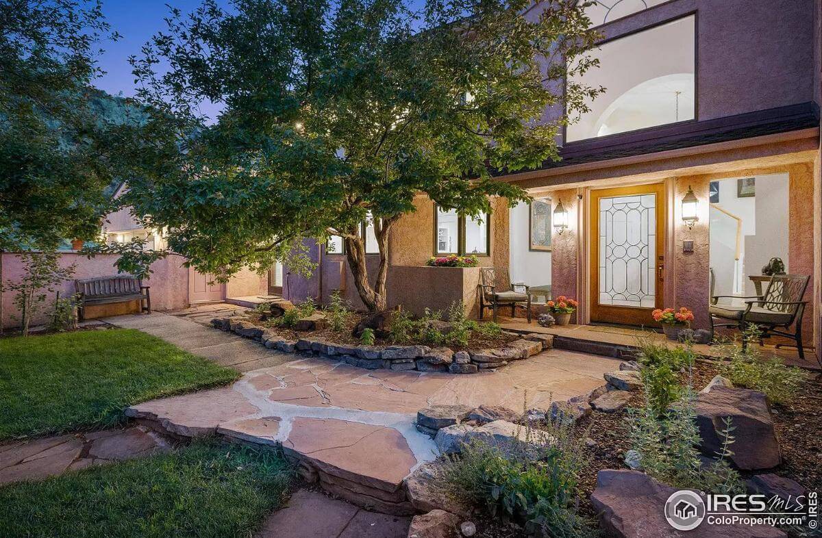
[[133, 329], [0, 338], [0, 439], [115, 425], [134, 403], [238, 375]]

